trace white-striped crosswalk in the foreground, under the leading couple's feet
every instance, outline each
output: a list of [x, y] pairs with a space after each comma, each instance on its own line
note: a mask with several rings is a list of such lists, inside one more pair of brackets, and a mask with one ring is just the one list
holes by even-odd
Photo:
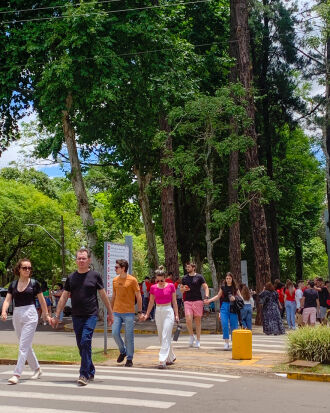
[[[1, 412], [11, 413], [97, 413], [105, 411], [146, 411], [170, 409], [182, 400], [196, 398], [237, 375], [147, 368], [97, 366], [95, 381], [86, 387], [76, 384], [78, 366], [47, 365], [42, 377], [8, 385], [11, 369], [0, 370]], [[190, 400], [191, 399], [191, 400]], [[190, 401], [189, 401], [190, 400]], [[9, 403], [10, 401], [10, 403]], [[128, 409], [128, 410], [127, 410]]]

